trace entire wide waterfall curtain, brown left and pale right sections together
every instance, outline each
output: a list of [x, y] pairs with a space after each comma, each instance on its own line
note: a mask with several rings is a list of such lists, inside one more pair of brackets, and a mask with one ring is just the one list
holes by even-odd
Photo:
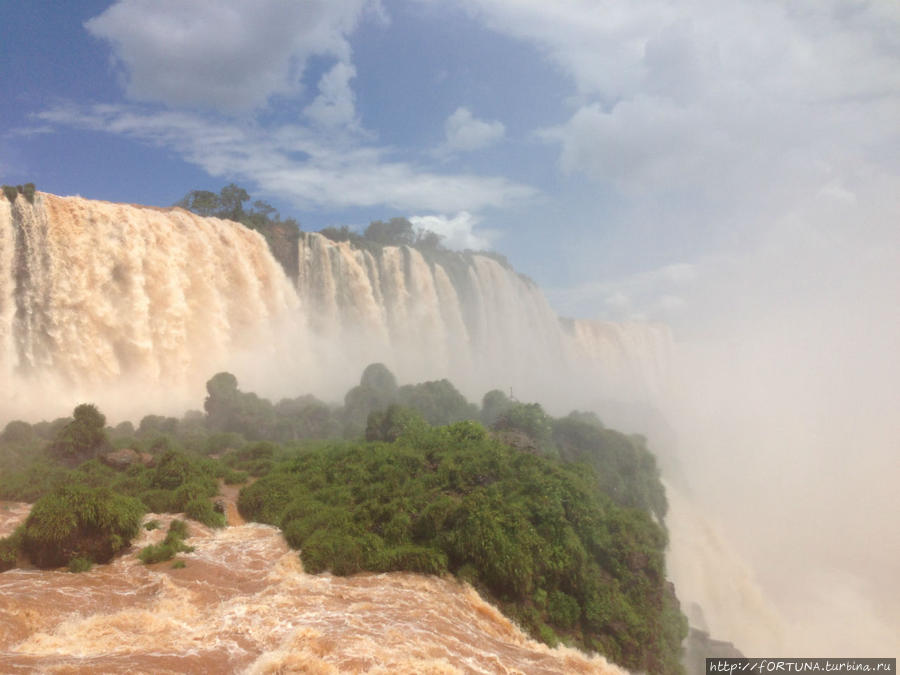
[[339, 398], [369, 363], [564, 408], [665, 380], [653, 324], [561, 320], [489, 255], [299, 240], [296, 279], [236, 223], [37, 193], [0, 198], [0, 417], [198, 407], [219, 370], [262, 395]]

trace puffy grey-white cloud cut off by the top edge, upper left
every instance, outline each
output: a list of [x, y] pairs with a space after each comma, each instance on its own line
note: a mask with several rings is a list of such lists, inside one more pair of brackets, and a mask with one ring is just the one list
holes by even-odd
[[[294, 95], [311, 55], [349, 60], [367, 0], [119, 0], [85, 23], [141, 101], [248, 110]], [[377, 10], [379, 5], [374, 5]]]

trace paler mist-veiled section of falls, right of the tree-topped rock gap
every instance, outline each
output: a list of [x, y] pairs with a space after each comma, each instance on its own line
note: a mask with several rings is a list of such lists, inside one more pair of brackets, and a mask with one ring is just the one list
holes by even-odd
[[299, 246], [311, 332], [353, 345], [356, 372], [382, 360], [401, 381], [450, 377], [471, 398], [502, 387], [569, 407], [643, 400], [666, 379], [667, 327], [560, 320], [534, 283], [489, 256], [370, 252], [317, 233]]

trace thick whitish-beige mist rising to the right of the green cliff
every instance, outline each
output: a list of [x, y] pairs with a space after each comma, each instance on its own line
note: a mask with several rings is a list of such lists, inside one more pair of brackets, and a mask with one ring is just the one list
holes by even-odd
[[704, 608], [748, 654], [900, 647], [900, 205], [870, 178], [754, 219], [677, 323], [674, 478], [757, 584], [754, 611], [727, 584]]

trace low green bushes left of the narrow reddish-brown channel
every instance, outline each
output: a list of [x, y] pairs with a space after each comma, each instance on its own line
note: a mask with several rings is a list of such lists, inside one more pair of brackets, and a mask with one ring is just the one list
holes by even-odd
[[[226, 469], [187, 451], [188, 441], [196, 443], [195, 429], [175, 421], [174, 429], [166, 429], [175, 432], [172, 437], [147, 431], [144, 439], [126, 438], [104, 428], [102, 413], [84, 404], [71, 419], [7, 424], [0, 433], [0, 499], [35, 505], [20, 530], [0, 540], [0, 571], [15, 566], [19, 555], [39, 567], [68, 565], [73, 571], [109, 562], [129, 545], [147, 511], [184, 512], [224, 526], [211, 497]], [[124, 459], [110, 460], [111, 442], [130, 446]], [[205, 437], [198, 445], [204, 443]], [[152, 529], [154, 521], [145, 527]]]

